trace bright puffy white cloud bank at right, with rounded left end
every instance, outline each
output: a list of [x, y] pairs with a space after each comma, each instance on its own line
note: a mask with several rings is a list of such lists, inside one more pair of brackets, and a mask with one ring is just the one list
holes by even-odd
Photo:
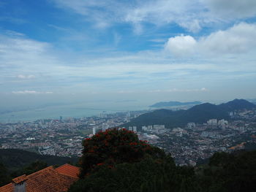
[[225, 31], [217, 31], [195, 40], [191, 36], [168, 39], [165, 49], [173, 55], [229, 55], [249, 53], [256, 46], [256, 24], [239, 23]]

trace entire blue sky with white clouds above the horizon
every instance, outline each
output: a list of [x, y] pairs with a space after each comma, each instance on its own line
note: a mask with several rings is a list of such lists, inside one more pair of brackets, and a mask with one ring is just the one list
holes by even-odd
[[0, 1], [5, 109], [253, 99], [255, 61], [255, 0]]

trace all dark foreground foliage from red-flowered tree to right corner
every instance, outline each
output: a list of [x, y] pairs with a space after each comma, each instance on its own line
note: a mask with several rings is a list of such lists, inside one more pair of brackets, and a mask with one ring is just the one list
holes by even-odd
[[256, 191], [256, 151], [215, 153], [203, 166], [176, 166], [125, 129], [100, 132], [83, 147], [80, 180], [69, 192]]

